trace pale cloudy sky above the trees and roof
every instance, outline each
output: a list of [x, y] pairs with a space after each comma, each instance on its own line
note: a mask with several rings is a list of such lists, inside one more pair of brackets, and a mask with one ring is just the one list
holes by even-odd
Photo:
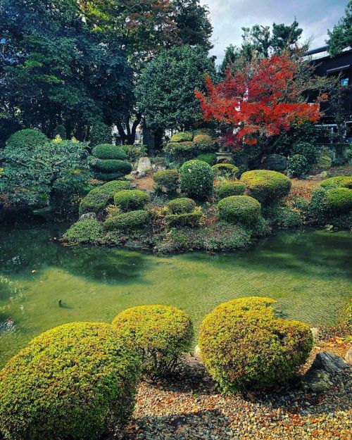
[[213, 24], [212, 55], [222, 60], [231, 43], [241, 44], [241, 27], [290, 24], [296, 19], [303, 29], [303, 40], [313, 37], [311, 48], [322, 46], [327, 29], [344, 15], [348, 0], [201, 0], [209, 7]]

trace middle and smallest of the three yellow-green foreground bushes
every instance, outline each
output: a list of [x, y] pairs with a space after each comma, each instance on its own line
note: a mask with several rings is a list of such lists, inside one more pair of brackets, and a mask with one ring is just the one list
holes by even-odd
[[193, 338], [191, 318], [171, 306], [137, 306], [119, 313], [113, 327], [130, 336], [148, 375], [166, 375], [178, 367]]

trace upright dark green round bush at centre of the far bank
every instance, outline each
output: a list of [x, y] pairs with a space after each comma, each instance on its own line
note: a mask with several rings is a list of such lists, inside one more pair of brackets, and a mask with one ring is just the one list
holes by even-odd
[[180, 168], [181, 190], [195, 199], [207, 199], [213, 192], [214, 173], [208, 163], [188, 161]]

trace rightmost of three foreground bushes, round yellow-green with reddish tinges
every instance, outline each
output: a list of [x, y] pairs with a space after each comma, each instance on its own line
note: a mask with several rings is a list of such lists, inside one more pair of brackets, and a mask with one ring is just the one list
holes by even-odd
[[308, 358], [308, 325], [275, 318], [274, 300], [238, 298], [222, 303], [200, 326], [201, 358], [222, 391], [286, 384]]

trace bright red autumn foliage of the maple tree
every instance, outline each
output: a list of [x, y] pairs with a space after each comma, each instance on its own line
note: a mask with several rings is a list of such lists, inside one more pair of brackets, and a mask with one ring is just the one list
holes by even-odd
[[227, 70], [223, 82], [214, 85], [206, 77], [206, 94], [196, 91], [205, 120], [232, 126], [222, 142], [234, 149], [253, 145], [260, 137], [273, 137], [293, 124], [318, 122], [320, 96], [315, 103], [303, 101], [307, 80], [300, 61], [289, 54], [253, 60], [236, 72]]

